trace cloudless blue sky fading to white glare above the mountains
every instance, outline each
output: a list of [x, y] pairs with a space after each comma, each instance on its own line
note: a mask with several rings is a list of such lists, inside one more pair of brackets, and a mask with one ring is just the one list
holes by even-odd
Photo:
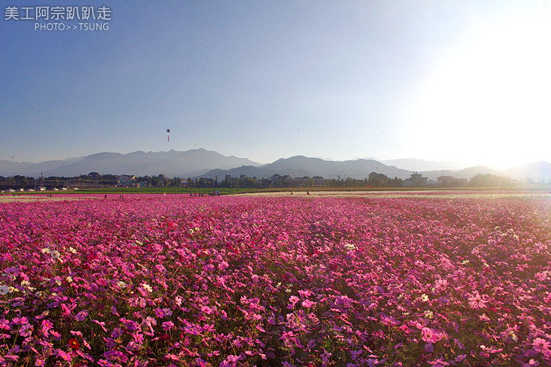
[[[0, 160], [206, 148], [551, 162], [551, 1], [2, 5]], [[112, 19], [35, 30], [6, 6], [107, 6]]]

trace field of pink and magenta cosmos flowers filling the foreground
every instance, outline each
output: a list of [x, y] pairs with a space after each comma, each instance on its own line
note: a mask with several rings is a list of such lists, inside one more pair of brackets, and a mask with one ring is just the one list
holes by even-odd
[[0, 366], [551, 366], [550, 195], [0, 203]]

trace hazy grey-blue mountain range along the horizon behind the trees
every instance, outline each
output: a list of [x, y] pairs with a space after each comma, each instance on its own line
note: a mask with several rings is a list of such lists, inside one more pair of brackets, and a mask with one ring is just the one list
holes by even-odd
[[136, 176], [212, 177], [223, 179], [226, 172], [232, 176], [270, 177], [273, 174], [292, 177], [322, 176], [325, 179], [364, 179], [371, 172], [385, 174], [390, 178], [406, 179], [419, 172], [429, 179], [439, 176], [454, 176], [470, 179], [476, 174], [505, 175], [513, 179], [532, 179], [535, 182], [551, 181], [551, 164], [533, 162], [504, 171], [487, 167], [459, 169], [455, 162], [430, 162], [416, 159], [386, 160], [357, 159], [330, 161], [301, 155], [281, 158], [269, 164], [253, 162], [247, 158], [226, 157], [205, 149], [170, 150], [168, 152], [131, 152], [126, 154], [102, 152], [85, 157], [68, 158], [40, 163], [0, 161], [0, 176], [78, 176], [90, 172], [100, 174], [135, 174]]

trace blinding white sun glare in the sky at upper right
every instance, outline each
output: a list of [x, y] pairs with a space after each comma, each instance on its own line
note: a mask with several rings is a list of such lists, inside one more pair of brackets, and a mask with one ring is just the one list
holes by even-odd
[[550, 16], [547, 8], [492, 22], [445, 57], [410, 115], [422, 155], [436, 149], [497, 169], [550, 159]]

